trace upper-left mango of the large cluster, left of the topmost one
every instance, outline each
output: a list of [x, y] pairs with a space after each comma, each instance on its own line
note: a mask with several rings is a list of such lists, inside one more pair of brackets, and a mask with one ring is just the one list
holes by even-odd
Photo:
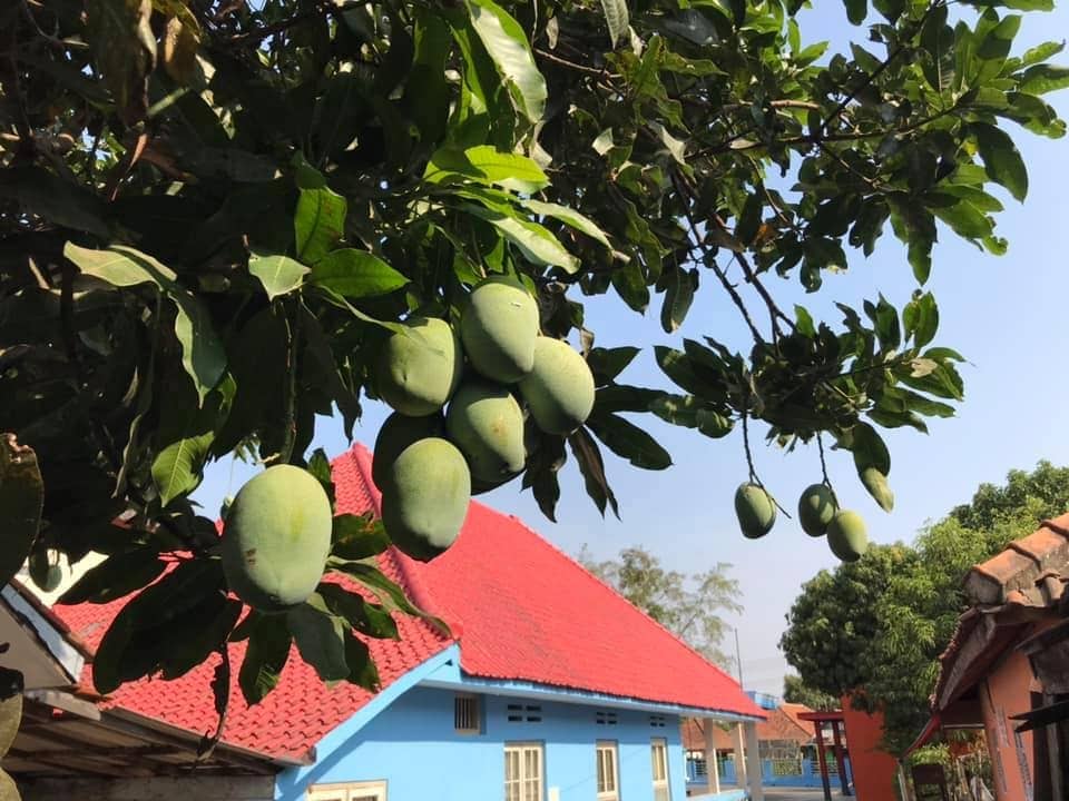
[[375, 363], [379, 396], [409, 417], [424, 417], [449, 400], [463, 368], [453, 328], [437, 317], [410, 317], [408, 334], [394, 333]]

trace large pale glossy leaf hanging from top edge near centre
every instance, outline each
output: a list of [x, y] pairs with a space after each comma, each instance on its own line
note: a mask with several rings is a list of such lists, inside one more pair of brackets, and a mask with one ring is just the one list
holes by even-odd
[[546, 111], [546, 79], [520, 23], [493, 0], [467, 0], [472, 28], [487, 49], [517, 111], [531, 123]]

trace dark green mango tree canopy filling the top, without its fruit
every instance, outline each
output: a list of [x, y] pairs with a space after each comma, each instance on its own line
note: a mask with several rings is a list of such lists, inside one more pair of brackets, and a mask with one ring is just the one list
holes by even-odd
[[[234, 453], [330, 488], [307, 454], [316, 415], [352, 432], [385, 334], [415, 310], [455, 319], [487, 274], [537, 291], [545, 334], [578, 332], [599, 389], [568, 445], [602, 512], [601, 445], [671, 462], [629, 413], [714, 438], [753, 418], [787, 446], [824, 432], [883, 492], [875, 426], [923, 431], [963, 393], [922, 288], [938, 228], [1006, 249], [988, 190], [1028, 186], [1010, 123], [1061, 136], [1041, 96], [1069, 73], [1049, 63], [1058, 43], [1013, 52], [1008, 10], [1051, 0], [953, 18], [948, 0], [881, 0], [871, 19], [850, 0], [866, 43], [831, 57], [803, 39], [802, 4], [4, 4], [0, 408], [41, 467], [31, 563], [107, 554], [73, 594], [90, 601], [178, 565], [116, 620], [98, 681], [179, 675], [248, 637], [252, 701], [291, 639], [321, 675], [344, 662], [374, 685], [352, 630], [392, 636], [389, 612], [414, 612], [356, 561], [381, 530], [337, 518], [330, 563], [381, 603], [320, 594], [231, 632], [216, 528], [190, 493]], [[776, 304], [773, 278], [816, 291], [889, 226], [919, 285], [904, 308], [877, 297], [836, 323]], [[753, 347], [710, 332], [657, 348], [683, 394], [618, 383], [636, 348], [592, 347], [580, 298], [641, 313], [657, 296], [670, 333], [703, 284]], [[552, 517], [566, 443], [530, 445], [524, 487]]]

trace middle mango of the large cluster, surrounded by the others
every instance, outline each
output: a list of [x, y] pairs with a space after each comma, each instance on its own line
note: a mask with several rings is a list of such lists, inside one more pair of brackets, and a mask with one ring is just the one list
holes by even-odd
[[501, 384], [462, 383], [445, 413], [445, 432], [477, 482], [497, 484], [523, 469], [523, 412]]

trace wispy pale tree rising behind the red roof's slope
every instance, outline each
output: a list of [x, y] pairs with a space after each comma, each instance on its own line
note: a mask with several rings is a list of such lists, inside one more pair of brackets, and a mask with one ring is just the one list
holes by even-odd
[[639, 546], [624, 548], [618, 558], [597, 561], [583, 545], [579, 561], [706, 659], [734, 666], [735, 660], [720, 649], [727, 631], [720, 614], [743, 609], [738, 581], [727, 576], [729, 564], [717, 562], [704, 573], [684, 574], [665, 570]]

